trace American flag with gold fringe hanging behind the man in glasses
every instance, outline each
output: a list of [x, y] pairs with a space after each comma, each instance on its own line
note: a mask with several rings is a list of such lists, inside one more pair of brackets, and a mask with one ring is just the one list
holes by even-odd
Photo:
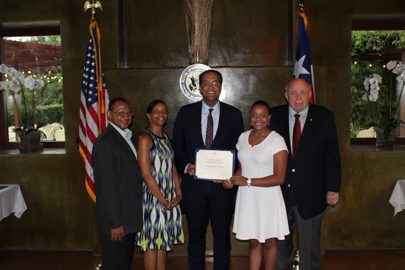
[[100, 30], [94, 18], [89, 28], [90, 40], [80, 93], [79, 151], [85, 161], [87, 192], [96, 202], [92, 150], [97, 136], [108, 125], [106, 109], [108, 109], [109, 100], [101, 67]]

